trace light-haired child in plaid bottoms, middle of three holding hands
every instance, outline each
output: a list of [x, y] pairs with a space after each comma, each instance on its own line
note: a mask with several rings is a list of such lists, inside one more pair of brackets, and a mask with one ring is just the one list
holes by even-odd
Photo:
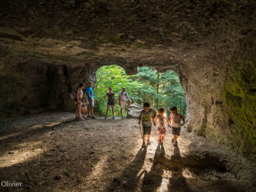
[[169, 121], [166, 117], [166, 111], [164, 108], [158, 108], [157, 115], [155, 117], [155, 123], [157, 122], [158, 143], [163, 144], [164, 136], [167, 132], [166, 123], [169, 125]]

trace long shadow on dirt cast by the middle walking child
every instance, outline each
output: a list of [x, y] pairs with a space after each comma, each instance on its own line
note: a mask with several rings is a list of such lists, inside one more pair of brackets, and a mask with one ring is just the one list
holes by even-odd
[[141, 191], [155, 191], [158, 187], [161, 186], [162, 176], [159, 175], [158, 172], [163, 173], [163, 169], [161, 170], [158, 162], [159, 159], [162, 158], [165, 158], [165, 148], [163, 144], [158, 144], [150, 171], [144, 171], [144, 178], [142, 182]]

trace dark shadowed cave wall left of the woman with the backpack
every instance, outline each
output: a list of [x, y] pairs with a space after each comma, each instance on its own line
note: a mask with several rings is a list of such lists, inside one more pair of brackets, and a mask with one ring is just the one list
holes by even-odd
[[69, 91], [81, 82], [87, 84], [88, 80], [96, 82], [96, 74], [86, 67], [6, 58], [1, 66], [0, 116], [59, 109], [74, 111]]

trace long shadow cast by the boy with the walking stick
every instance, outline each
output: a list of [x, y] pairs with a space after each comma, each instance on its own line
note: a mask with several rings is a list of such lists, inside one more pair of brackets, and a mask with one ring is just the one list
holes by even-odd
[[147, 148], [141, 147], [133, 161], [124, 168], [120, 176], [112, 180], [112, 183], [104, 191], [134, 191], [144, 172], [139, 174], [144, 165], [146, 154]]

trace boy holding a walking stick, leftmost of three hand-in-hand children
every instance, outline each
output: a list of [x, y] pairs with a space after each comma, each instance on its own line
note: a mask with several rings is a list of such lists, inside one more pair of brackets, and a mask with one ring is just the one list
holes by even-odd
[[143, 105], [143, 110], [140, 112], [140, 117], [139, 117], [139, 125], [140, 121], [142, 122], [142, 127], [143, 127], [143, 143], [142, 147], [146, 147], [146, 135], [148, 135], [148, 145], [151, 144], [150, 142], [150, 134], [151, 134], [151, 119], [154, 122], [155, 126], [155, 121], [154, 121], [154, 112], [150, 109], [150, 104], [148, 102], [145, 102]]

